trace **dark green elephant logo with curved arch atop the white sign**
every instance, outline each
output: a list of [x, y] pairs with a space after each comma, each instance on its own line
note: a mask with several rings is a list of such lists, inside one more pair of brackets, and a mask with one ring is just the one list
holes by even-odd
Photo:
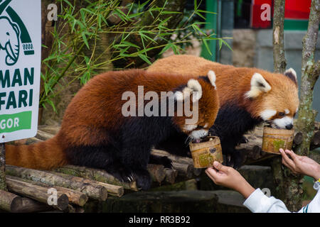
[[[34, 55], [31, 37], [21, 18], [9, 6], [10, 2], [11, 0], [0, 0], [0, 52], [6, 52], [5, 62], [9, 66], [18, 61], [21, 47], [24, 55]], [[8, 16], [1, 15], [3, 12]]]

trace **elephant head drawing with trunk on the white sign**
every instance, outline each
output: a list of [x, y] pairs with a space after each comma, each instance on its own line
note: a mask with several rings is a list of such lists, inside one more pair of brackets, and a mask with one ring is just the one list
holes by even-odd
[[6, 16], [0, 16], [0, 28], [0, 50], [6, 51], [6, 65], [14, 65], [19, 57], [20, 30]]

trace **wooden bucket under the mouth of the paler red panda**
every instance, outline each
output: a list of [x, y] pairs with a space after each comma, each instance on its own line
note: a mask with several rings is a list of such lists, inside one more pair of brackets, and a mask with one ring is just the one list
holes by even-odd
[[279, 149], [291, 150], [294, 139], [294, 129], [263, 128], [262, 150], [280, 155]]

